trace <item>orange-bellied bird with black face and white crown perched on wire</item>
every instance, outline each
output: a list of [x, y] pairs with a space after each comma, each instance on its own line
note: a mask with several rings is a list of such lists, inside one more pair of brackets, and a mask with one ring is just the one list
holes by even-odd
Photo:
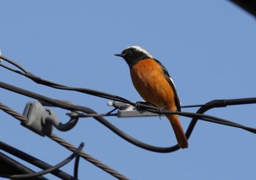
[[[127, 62], [132, 84], [140, 96], [159, 109], [181, 111], [173, 79], [159, 60], [140, 46], [130, 46], [121, 53], [115, 54]], [[187, 136], [177, 114], [165, 114], [173, 127], [178, 146], [181, 149], [189, 146]]]

